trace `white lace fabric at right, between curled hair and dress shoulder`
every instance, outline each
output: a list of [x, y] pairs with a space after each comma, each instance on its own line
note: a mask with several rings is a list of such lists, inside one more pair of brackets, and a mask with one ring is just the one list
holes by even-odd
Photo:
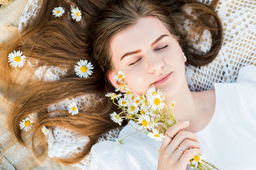
[[[216, 59], [203, 67], [186, 66], [186, 79], [193, 91], [212, 89], [213, 83], [235, 82], [241, 67], [256, 66], [256, 1], [220, 1], [216, 11], [223, 24], [223, 45]], [[211, 34], [205, 32], [198, 45], [209, 50]]]

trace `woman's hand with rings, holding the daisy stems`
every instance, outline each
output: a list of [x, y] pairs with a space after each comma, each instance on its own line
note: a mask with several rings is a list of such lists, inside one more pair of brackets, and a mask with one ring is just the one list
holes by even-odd
[[189, 122], [188, 124], [178, 122], [167, 129], [166, 138], [163, 140], [159, 151], [157, 170], [185, 170], [189, 160], [202, 153], [196, 134], [182, 131], [188, 125]]

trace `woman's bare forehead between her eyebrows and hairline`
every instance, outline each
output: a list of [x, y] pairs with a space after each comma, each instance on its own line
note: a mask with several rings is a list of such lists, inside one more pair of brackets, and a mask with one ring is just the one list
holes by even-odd
[[131, 50], [151, 45], [162, 34], [170, 35], [170, 32], [157, 17], [140, 18], [136, 24], [113, 36], [110, 43], [111, 53], [120, 57]]

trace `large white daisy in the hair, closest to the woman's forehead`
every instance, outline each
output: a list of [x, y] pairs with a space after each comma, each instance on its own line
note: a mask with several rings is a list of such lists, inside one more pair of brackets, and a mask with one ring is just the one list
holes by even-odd
[[80, 78], [88, 78], [93, 73], [92, 69], [93, 65], [88, 60], [79, 60], [75, 66], [76, 75]]

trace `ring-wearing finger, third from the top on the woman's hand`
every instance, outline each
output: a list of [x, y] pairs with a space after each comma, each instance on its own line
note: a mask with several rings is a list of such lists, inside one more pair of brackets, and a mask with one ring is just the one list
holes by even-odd
[[176, 150], [172, 153], [172, 160], [173, 161], [177, 161], [180, 159], [180, 157], [182, 156], [182, 154], [186, 151], [189, 150], [190, 148], [198, 148], [200, 149], [201, 146], [199, 143], [197, 143], [196, 141], [191, 141], [189, 139], [185, 139], [181, 144], [180, 144], [180, 148], [183, 152], [180, 152], [179, 149], [176, 148]]

